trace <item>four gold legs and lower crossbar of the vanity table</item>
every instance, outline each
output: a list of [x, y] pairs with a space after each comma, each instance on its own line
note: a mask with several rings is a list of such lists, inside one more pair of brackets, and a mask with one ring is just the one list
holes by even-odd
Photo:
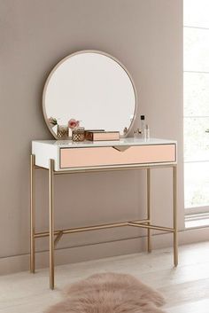
[[[54, 230], [54, 160], [49, 161], [49, 211], [50, 211], [50, 231], [46, 233], [36, 233], [35, 234], [35, 155], [31, 155], [30, 162], [30, 271], [35, 272], [35, 238], [50, 236], [50, 289], [54, 289], [54, 250], [55, 244], [62, 237], [64, 233], [84, 231], [83, 228], [76, 230], [64, 230], [56, 231]], [[146, 168], [147, 170], [147, 219], [144, 221], [127, 222], [127, 223], [116, 223], [113, 226], [137, 226], [142, 228], [147, 228], [147, 250], [151, 252], [151, 229], [157, 229], [162, 231], [174, 232], [174, 266], [178, 265], [178, 239], [177, 239], [177, 166], [172, 166], [173, 168], [173, 211], [174, 211], [174, 227], [172, 229], [166, 227], [159, 227], [151, 225], [151, 168]], [[136, 221], [137, 222], [137, 221]], [[141, 223], [139, 223], [141, 222]], [[144, 224], [143, 224], [144, 223]], [[120, 224], [120, 225], [119, 225]], [[110, 227], [113, 227], [110, 224]], [[105, 227], [104, 227], [105, 226]], [[108, 224], [109, 226], [109, 224]], [[107, 228], [107, 225], [86, 227], [85, 231], [93, 229]], [[42, 236], [40, 236], [40, 234]], [[55, 234], [57, 238], [54, 239]]]

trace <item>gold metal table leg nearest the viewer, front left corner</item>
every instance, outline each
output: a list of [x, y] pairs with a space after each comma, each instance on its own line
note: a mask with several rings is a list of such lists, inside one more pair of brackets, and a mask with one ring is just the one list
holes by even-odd
[[54, 289], [54, 160], [49, 168], [49, 208], [50, 208], [50, 289]]

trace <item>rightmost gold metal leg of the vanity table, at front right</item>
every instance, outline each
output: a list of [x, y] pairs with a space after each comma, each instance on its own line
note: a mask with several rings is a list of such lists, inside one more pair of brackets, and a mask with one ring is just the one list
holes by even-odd
[[174, 266], [178, 265], [178, 229], [177, 229], [177, 166], [173, 167], [173, 208], [174, 208]]

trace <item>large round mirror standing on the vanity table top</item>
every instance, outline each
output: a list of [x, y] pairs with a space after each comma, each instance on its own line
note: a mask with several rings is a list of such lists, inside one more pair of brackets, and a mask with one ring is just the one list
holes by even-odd
[[74, 119], [85, 129], [128, 136], [135, 119], [133, 80], [120, 61], [101, 51], [79, 51], [62, 59], [43, 90], [43, 114], [54, 137]]

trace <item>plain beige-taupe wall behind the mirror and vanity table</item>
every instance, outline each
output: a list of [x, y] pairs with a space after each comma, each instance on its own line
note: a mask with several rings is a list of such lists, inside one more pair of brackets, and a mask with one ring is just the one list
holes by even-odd
[[[0, 257], [29, 251], [31, 140], [51, 138], [43, 120], [43, 83], [60, 59], [85, 49], [106, 51], [120, 59], [133, 76], [138, 114], [146, 115], [151, 136], [178, 140], [183, 229], [182, 0], [6, 0], [0, 2], [0, 12]], [[142, 171], [58, 176], [56, 227], [143, 216], [143, 178]], [[36, 179], [36, 222], [44, 230], [48, 227], [47, 176], [39, 172]], [[170, 224], [170, 190], [170, 171], [155, 170], [152, 201], [157, 223]], [[66, 236], [59, 247], [139, 234], [135, 229], [89, 232]], [[46, 248], [47, 240], [41, 239], [38, 249]], [[83, 258], [89, 258], [83, 251]], [[133, 251], [137, 251], [135, 245]], [[114, 249], [109, 251], [114, 253]]]

